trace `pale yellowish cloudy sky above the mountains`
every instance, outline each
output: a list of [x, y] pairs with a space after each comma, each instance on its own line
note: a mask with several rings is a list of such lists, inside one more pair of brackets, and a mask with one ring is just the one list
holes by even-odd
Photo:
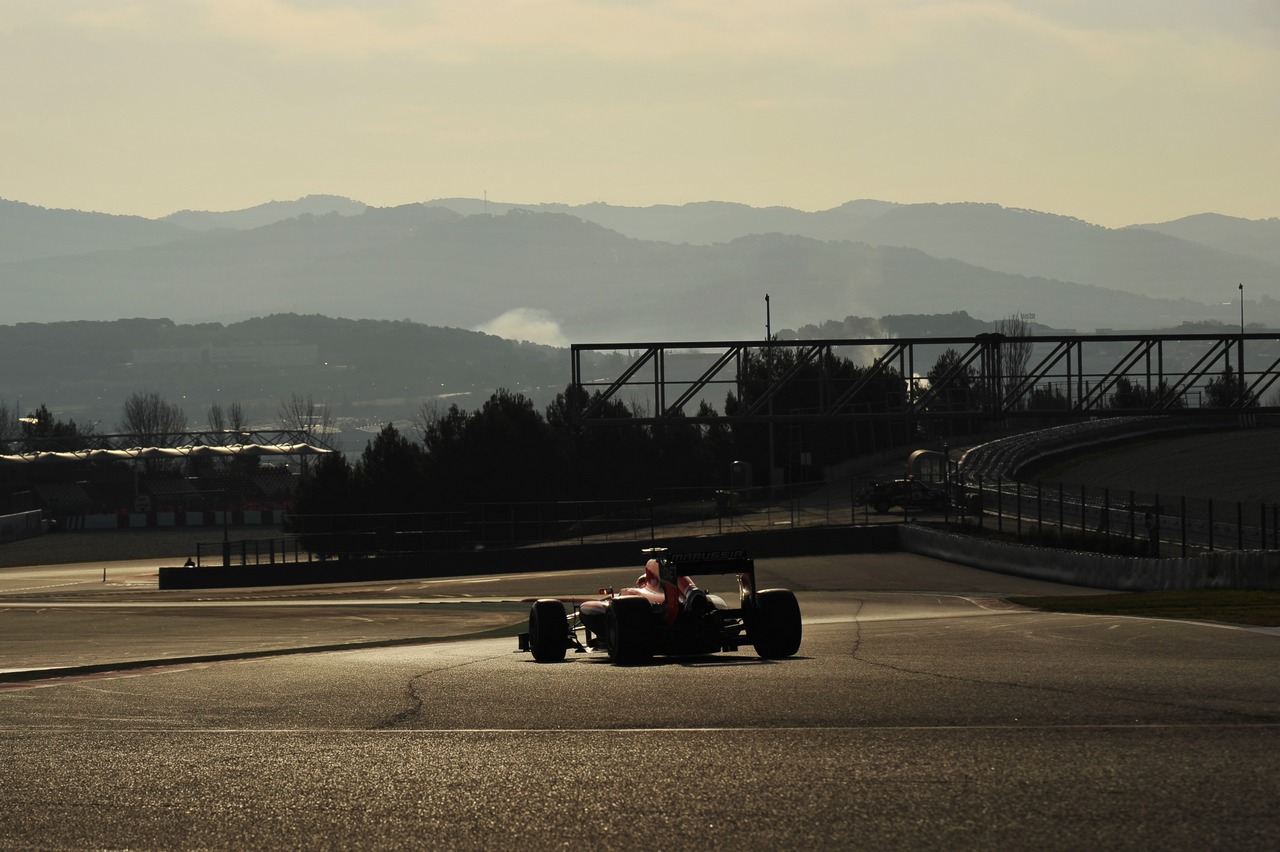
[[0, 0], [0, 197], [1280, 216], [1280, 0]]

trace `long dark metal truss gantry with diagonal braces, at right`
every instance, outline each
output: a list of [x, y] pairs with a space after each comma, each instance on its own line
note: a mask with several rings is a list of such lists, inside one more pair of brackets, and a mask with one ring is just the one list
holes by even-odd
[[[742, 402], [730, 417], [737, 421], [1280, 411], [1272, 390], [1280, 331], [591, 343], [573, 344], [571, 357], [571, 381], [590, 399], [585, 422], [605, 422], [611, 400], [632, 406], [639, 417], [630, 422], [698, 422], [709, 420], [699, 404], [714, 406], [726, 393]], [[745, 394], [750, 358], [771, 366], [763, 386]], [[855, 377], [829, 376], [832, 358], [858, 366]], [[938, 365], [945, 368], [931, 380]], [[804, 404], [774, 411], [773, 400], [788, 393], [794, 402], [801, 383]], [[869, 391], [878, 399], [868, 402]]]

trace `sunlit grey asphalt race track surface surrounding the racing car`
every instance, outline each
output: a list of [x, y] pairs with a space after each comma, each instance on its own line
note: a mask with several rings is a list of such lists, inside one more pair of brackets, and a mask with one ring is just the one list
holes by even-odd
[[[0, 848], [1275, 847], [1274, 632], [905, 554], [758, 567], [800, 656], [636, 668], [439, 637], [637, 569], [200, 601], [0, 571], [0, 668], [73, 667], [0, 675]], [[278, 654], [308, 646], [349, 647]]]

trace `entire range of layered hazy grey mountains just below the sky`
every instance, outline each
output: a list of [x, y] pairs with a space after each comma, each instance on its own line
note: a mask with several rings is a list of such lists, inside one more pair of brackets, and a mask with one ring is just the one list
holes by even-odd
[[[1277, 220], [1107, 229], [997, 205], [854, 201], [805, 212], [307, 196], [163, 220], [0, 202], [0, 298], [18, 321], [269, 313], [483, 327], [526, 310], [570, 340], [696, 340], [850, 315], [1034, 313], [1051, 327], [1280, 325]], [[1228, 304], [1224, 306], [1224, 302]]]

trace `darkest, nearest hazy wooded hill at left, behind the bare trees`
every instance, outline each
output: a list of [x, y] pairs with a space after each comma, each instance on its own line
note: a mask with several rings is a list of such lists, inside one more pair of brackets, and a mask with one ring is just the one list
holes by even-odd
[[225, 326], [164, 319], [0, 325], [0, 362], [22, 365], [6, 371], [0, 400], [22, 413], [47, 404], [102, 432], [114, 431], [137, 390], [180, 404], [193, 429], [205, 426], [214, 402], [238, 402], [251, 422], [278, 425], [279, 404], [293, 394], [381, 425], [411, 417], [433, 397], [470, 411], [497, 388], [544, 404], [570, 380], [562, 349], [296, 313]]

